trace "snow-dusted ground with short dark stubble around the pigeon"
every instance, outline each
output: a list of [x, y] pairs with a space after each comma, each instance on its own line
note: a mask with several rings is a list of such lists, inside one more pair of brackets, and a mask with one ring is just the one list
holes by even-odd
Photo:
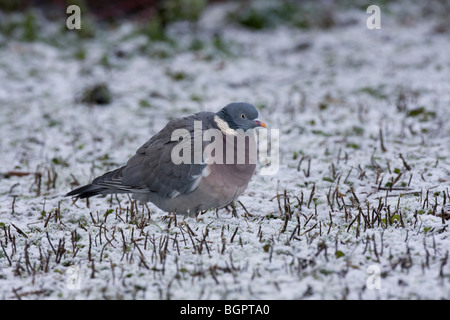
[[[450, 298], [438, 16], [391, 6], [368, 30], [357, 7], [331, 28], [255, 31], [232, 9], [164, 41], [128, 23], [0, 36], [1, 299]], [[277, 174], [259, 166], [235, 208], [175, 217], [124, 195], [64, 197], [169, 119], [231, 101], [280, 129]]]

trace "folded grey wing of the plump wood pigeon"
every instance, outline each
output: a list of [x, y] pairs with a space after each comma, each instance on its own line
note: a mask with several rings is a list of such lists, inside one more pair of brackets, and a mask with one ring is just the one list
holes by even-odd
[[[203, 129], [205, 126], [208, 128], [212, 115], [201, 112], [170, 121], [137, 150], [126, 166], [112, 172], [116, 172], [114, 179], [99, 177], [93, 183], [125, 192], [155, 192], [161, 197], [168, 198], [195, 190], [202, 179], [206, 164], [201, 159], [194, 161], [198, 160], [193, 157], [194, 141], [202, 143], [203, 133], [202, 130], [194, 130], [194, 122], [201, 121]], [[195, 134], [198, 137], [195, 137]], [[172, 150], [175, 146], [176, 150], [182, 149], [184, 156], [184, 152], [191, 153], [188, 157], [190, 161], [178, 164], [179, 161], [174, 162]], [[175, 156], [180, 157], [180, 154], [177, 153]]]

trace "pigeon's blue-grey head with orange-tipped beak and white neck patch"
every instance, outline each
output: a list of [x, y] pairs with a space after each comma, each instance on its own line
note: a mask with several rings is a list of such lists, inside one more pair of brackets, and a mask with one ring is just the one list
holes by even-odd
[[217, 112], [215, 120], [222, 131], [233, 133], [238, 129], [245, 132], [256, 127], [266, 128], [266, 124], [257, 118], [258, 110], [253, 105], [245, 102], [234, 102]]

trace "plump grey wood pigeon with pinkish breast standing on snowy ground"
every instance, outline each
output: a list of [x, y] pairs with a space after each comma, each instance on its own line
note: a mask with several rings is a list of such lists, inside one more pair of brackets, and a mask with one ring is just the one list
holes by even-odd
[[[257, 117], [253, 105], [235, 102], [217, 113], [199, 112], [174, 119], [125, 166], [66, 196], [130, 193], [141, 202], [150, 201], [164, 211], [180, 214], [227, 206], [244, 192], [254, 173], [252, 129], [266, 127]], [[181, 154], [184, 161], [180, 161]]]

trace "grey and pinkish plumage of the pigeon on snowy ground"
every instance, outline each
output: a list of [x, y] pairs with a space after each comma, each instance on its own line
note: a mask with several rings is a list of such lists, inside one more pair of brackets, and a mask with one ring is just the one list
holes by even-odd
[[[244, 192], [256, 166], [250, 163], [248, 157], [249, 148], [255, 143], [252, 137], [245, 144], [245, 163], [236, 162], [236, 144], [235, 161], [225, 163], [226, 140], [230, 139], [227, 133], [233, 132], [228, 129], [247, 131], [257, 126], [265, 127], [264, 123], [256, 120], [257, 116], [258, 112], [252, 105], [232, 103], [217, 113], [199, 112], [172, 120], [143, 144], [125, 166], [95, 178], [91, 184], [75, 189], [67, 196], [87, 198], [98, 194], [131, 193], [134, 199], [150, 201], [164, 211], [177, 213], [226, 206]], [[195, 121], [201, 121], [201, 133], [220, 128], [224, 146], [223, 164], [207, 164], [206, 159], [195, 163], [193, 152], [191, 163], [173, 162], [171, 152], [179, 142], [172, 141], [172, 133], [177, 129], [185, 129], [192, 137]], [[203, 151], [210, 142], [200, 141]], [[194, 148], [194, 139], [190, 143]]]

